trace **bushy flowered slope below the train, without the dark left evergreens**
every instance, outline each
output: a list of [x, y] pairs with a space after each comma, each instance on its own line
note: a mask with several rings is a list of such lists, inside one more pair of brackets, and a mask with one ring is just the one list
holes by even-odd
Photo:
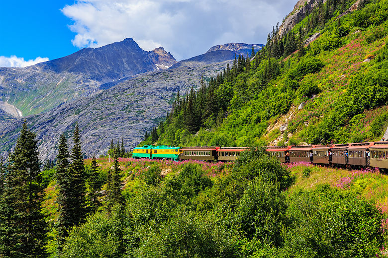
[[[113, 161], [97, 163], [106, 182]], [[387, 176], [377, 171], [284, 166], [262, 152], [236, 164], [119, 164], [125, 209], [102, 195], [61, 257], [384, 257]]]

